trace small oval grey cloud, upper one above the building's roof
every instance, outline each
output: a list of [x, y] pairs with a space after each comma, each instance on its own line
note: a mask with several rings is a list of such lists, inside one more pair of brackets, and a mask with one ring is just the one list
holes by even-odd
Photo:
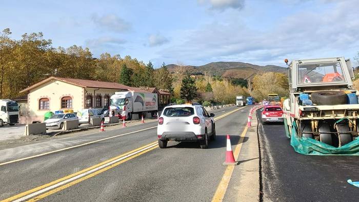
[[125, 32], [131, 29], [130, 23], [113, 14], [103, 16], [94, 14], [92, 15], [92, 21], [97, 26], [114, 32]]

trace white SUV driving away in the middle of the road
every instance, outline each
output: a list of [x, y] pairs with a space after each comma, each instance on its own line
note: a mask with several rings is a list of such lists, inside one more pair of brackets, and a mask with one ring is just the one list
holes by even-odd
[[163, 109], [158, 118], [157, 138], [159, 148], [166, 148], [169, 140], [199, 142], [208, 147], [209, 138], [215, 139], [214, 114], [199, 104], [172, 105]]

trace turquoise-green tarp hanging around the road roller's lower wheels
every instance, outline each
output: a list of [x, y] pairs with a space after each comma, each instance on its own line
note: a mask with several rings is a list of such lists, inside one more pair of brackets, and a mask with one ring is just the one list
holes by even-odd
[[295, 122], [292, 123], [292, 135], [290, 135], [285, 120], [286, 136], [290, 138], [290, 145], [294, 151], [305, 155], [346, 155], [346, 156], [359, 156], [359, 137], [353, 139], [352, 142], [343, 145], [342, 147], [333, 147], [321, 143], [315, 139], [302, 137], [297, 135], [297, 126]]

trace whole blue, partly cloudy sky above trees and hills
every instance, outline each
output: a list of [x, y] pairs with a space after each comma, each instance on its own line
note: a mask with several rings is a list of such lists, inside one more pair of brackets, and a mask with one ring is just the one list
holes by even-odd
[[0, 29], [43, 32], [54, 47], [88, 47], [155, 65], [284, 59], [359, 51], [359, 0], [1, 1]]

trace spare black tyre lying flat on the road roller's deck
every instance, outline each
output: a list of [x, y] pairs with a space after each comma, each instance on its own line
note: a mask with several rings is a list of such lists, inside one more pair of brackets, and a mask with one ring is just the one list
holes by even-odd
[[312, 102], [317, 105], [345, 105], [347, 104], [347, 94], [343, 91], [313, 92]]

